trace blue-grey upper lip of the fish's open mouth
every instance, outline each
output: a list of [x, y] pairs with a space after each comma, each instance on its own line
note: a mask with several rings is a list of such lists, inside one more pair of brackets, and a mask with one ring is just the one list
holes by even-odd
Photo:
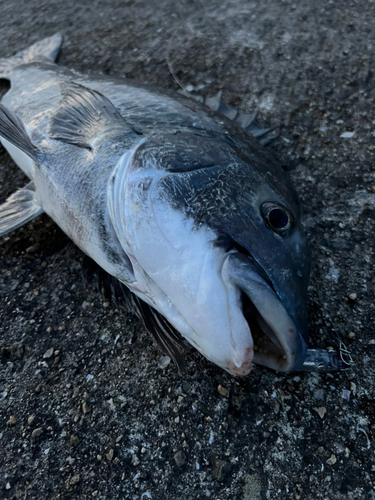
[[243, 314], [255, 347], [253, 362], [281, 372], [297, 370], [306, 358], [307, 346], [265, 272], [253, 258], [239, 252], [230, 253], [227, 259], [229, 275], [243, 294]]

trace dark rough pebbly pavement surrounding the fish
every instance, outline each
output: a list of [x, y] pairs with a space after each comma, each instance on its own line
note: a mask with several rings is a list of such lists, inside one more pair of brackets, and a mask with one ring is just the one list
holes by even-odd
[[[0, 498], [375, 498], [374, 18], [371, 0], [2, 0], [0, 57], [59, 31], [59, 64], [177, 89], [172, 71], [280, 126], [310, 346], [355, 364], [236, 379], [192, 352], [181, 378], [41, 216], [0, 240]], [[0, 202], [24, 184], [0, 149]]]

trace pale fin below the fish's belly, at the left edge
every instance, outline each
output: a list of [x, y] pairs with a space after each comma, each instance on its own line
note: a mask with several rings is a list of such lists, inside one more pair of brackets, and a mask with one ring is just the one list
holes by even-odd
[[43, 209], [36, 201], [34, 183], [30, 182], [0, 205], [0, 236], [23, 226], [41, 213]]

